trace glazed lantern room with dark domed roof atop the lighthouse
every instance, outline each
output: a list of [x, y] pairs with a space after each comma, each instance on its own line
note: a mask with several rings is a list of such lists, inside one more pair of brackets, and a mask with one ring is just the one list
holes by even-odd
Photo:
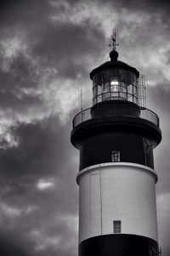
[[144, 84], [141, 83], [139, 71], [117, 60], [116, 50], [111, 51], [110, 57], [111, 61], [90, 73], [93, 80], [93, 105], [106, 100], [127, 100], [144, 106]]

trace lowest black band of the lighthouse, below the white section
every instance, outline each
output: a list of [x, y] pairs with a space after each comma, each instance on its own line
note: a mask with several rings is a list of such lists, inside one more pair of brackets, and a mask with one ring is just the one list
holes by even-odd
[[79, 245], [79, 256], [157, 256], [158, 243], [145, 236], [105, 235], [88, 238]]

